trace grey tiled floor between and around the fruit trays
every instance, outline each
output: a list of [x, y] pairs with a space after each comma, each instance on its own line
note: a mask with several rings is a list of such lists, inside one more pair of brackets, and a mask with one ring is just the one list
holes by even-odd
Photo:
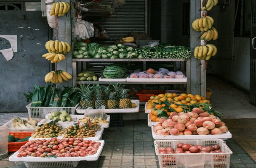
[[[232, 133], [227, 145], [232, 150], [230, 168], [256, 168], [256, 107], [249, 96], [215, 77], [207, 78], [213, 90], [211, 103], [222, 113], [223, 121]], [[27, 113], [0, 113], [0, 125]], [[241, 119], [242, 118], [242, 119]], [[124, 121], [124, 127], [104, 130], [105, 145], [99, 160], [80, 161], [78, 168], [159, 168], [151, 129], [146, 120]], [[23, 162], [0, 160], [0, 168], [25, 168]]]

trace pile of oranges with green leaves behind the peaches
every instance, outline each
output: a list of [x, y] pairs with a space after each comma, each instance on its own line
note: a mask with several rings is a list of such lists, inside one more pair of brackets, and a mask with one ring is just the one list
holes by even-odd
[[[170, 108], [164, 108], [164, 111], [170, 115], [171, 112], [180, 113], [184, 109], [181, 108], [183, 105], [192, 105], [197, 103], [206, 103], [210, 104], [209, 100], [206, 100], [205, 97], [200, 95], [192, 95], [192, 94], [185, 94], [181, 93], [180, 95], [176, 93], [165, 93], [165, 94], [159, 94], [157, 96], [153, 95], [150, 97], [150, 99], [147, 102], [147, 109], [151, 109], [151, 112], [149, 114], [149, 117], [152, 121], [159, 122], [159, 117], [157, 117], [157, 113], [159, 110], [163, 107], [165, 107], [164, 102], [168, 100], [171, 105], [169, 105]], [[154, 102], [157, 103], [154, 105]], [[180, 104], [180, 105], [179, 105]], [[155, 107], [154, 107], [155, 106]]]

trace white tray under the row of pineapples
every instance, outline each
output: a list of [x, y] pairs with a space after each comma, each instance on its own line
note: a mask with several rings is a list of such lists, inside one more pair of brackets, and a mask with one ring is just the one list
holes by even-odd
[[[116, 109], [104, 109], [104, 113], [137, 113], [139, 112], [139, 100], [131, 100], [131, 102], [135, 103], [135, 108], [116, 108]], [[95, 111], [99, 109], [94, 109]], [[82, 109], [81, 106], [79, 105], [78, 108], [76, 109], [78, 114], [84, 114], [86, 113], [86, 109]]]

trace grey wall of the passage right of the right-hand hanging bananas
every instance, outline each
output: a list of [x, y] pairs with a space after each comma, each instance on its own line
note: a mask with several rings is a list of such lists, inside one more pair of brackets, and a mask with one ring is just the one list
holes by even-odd
[[207, 72], [217, 74], [222, 79], [249, 92], [250, 38], [233, 38], [235, 0], [231, 0], [231, 4], [224, 11], [219, 8], [213, 8], [213, 10], [208, 13], [208, 16], [214, 18], [213, 27], [218, 30], [219, 37], [216, 41], [208, 43], [216, 45], [218, 53], [208, 62]]

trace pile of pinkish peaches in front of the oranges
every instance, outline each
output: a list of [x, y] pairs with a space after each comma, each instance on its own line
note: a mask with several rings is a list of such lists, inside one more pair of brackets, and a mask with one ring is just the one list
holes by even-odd
[[156, 135], [218, 135], [228, 131], [219, 118], [200, 108], [192, 112], [171, 112], [169, 118], [161, 117], [153, 127]]

